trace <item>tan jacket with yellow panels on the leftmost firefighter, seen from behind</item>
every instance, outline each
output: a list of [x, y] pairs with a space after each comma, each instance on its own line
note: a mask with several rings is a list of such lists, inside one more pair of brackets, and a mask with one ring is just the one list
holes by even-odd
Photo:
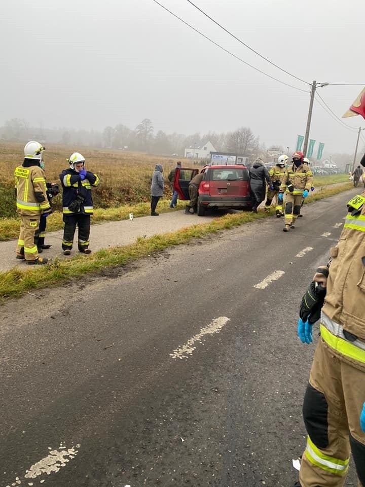
[[24, 159], [14, 171], [17, 213], [29, 217], [40, 216], [50, 210], [44, 171], [38, 161], [37, 165], [34, 164], [34, 159]]

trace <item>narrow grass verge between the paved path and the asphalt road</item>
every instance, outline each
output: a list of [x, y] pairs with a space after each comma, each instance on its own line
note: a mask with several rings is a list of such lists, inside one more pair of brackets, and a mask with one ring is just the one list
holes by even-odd
[[[320, 188], [311, 195], [308, 203], [347, 191], [352, 187], [351, 183], [346, 183], [331, 188]], [[119, 208], [116, 209], [116, 211], [119, 210]], [[129, 216], [129, 212], [127, 213]], [[168, 247], [188, 243], [194, 238], [202, 238], [267, 216], [268, 214], [263, 211], [258, 214], [240, 212], [224, 215], [209, 223], [193, 225], [176, 232], [154, 235], [151, 238], [138, 238], [135, 243], [124, 247], [102, 249], [87, 257], [77, 255], [70, 260], [56, 259], [50, 264], [37, 266], [25, 272], [15, 268], [0, 272], [0, 300], [4, 302], [10, 298], [18, 298], [32, 290], [60, 286], [84, 274], [97, 274], [107, 267], [123, 266], [137, 259], [161, 252]]]

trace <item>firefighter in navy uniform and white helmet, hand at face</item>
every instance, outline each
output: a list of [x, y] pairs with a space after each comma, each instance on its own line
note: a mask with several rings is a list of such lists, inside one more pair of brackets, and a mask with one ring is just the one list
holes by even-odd
[[85, 169], [85, 157], [79, 152], [74, 152], [67, 160], [70, 167], [60, 174], [64, 222], [62, 250], [64, 255], [70, 255], [78, 226], [79, 251], [90, 254], [90, 216], [94, 212], [91, 187], [99, 186], [100, 179]]

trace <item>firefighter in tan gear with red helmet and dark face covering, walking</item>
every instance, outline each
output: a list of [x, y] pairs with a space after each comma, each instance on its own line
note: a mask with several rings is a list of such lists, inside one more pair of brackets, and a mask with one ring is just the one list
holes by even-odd
[[293, 154], [293, 165], [289, 166], [280, 186], [278, 201], [283, 202], [285, 192], [284, 232], [295, 228], [295, 222], [300, 214], [303, 198], [307, 198], [313, 183], [313, 173], [303, 162], [303, 153]]

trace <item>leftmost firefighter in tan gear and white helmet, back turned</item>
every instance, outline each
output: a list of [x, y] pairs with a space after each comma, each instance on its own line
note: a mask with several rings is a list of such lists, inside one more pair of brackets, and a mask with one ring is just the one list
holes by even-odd
[[46, 180], [40, 167], [44, 150], [45, 147], [39, 142], [30, 141], [25, 144], [24, 162], [14, 172], [17, 213], [21, 218], [16, 258], [25, 259], [27, 264], [47, 264], [47, 259], [39, 256], [35, 243], [41, 215], [46, 217], [51, 212]]

